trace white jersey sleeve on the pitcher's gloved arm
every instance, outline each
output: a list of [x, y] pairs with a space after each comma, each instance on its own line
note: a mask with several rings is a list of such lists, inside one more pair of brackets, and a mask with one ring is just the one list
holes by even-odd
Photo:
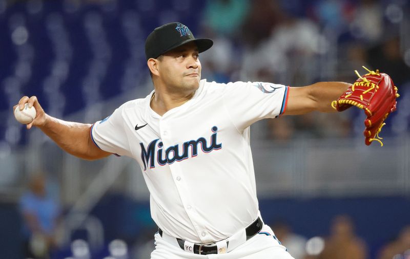
[[266, 82], [231, 82], [223, 91], [223, 102], [239, 131], [264, 118], [282, 115], [289, 87]]

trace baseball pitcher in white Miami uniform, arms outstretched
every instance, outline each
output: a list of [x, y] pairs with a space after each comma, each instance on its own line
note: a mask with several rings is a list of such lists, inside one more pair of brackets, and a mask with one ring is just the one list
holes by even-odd
[[138, 162], [159, 227], [152, 259], [293, 258], [258, 209], [250, 125], [355, 105], [368, 115], [365, 137], [370, 144], [395, 110], [397, 89], [378, 71], [355, 84], [318, 82], [298, 88], [208, 82], [201, 80], [199, 53], [212, 45], [181, 23], [156, 28], [145, 45], [154, 90], [92, 125], [47, 115], [35, 96], [24, 96], [18, 106], [34, 106], [36, 117], [27, 128], [39, 127], [72, 155], [93, 160], [116, 154]]

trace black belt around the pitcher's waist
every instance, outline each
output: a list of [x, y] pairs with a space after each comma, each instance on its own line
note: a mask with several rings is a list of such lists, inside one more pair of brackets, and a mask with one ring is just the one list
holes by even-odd
[[[263, 223], [262, 220], [258, 217], [254, 222], [252, 222], [251, 225], [249, 225], [247, 228], [245, 228], [245, 232], [247, 234], [247, 240], [252, 238], [252, 236], [256, 235], [261, 229], [262, 229]], [[162, 230], [158, 228], [158, 233], [160, 236], [162, 236]], [[183, 239], [178, 239], [178, 245], [182, 250], [183, 245], [185, 244], [185, 240]], [[227, 241], [227, 247], [228, 247], [229, 241]], [[194, 253], [196, 254], [217, 254], [218, 253], [218, 248], [216, 246], [216, 243], [207, 243], [207, 244], [194, 244]]]

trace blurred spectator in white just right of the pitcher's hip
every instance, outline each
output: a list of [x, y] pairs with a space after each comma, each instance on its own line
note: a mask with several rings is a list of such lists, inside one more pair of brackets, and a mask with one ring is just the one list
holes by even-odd
[[306, 239], [292, 232], [291, 227], [284, 221], [277, 221], [272, 225], [276, 237], [295, 259], [302, 259], [305, 255]]

